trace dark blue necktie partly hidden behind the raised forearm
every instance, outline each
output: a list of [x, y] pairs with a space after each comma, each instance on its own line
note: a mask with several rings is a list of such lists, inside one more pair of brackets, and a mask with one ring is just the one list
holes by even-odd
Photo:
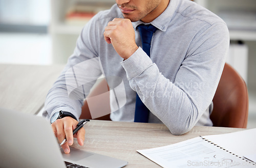
[[[148, 57], [150, 57], [151, 39], [153, 37], [153, 34], [156, 32], [157, 28], [152, 24], [140, 24], [138, 25], [138, 29], [140, 32], [142, 49], [146, 52]], [[134, 122], [147, 123], [149, 113], [150, 110], [148, 110], [148, 108], [141, 101], [140, 97], [137, 94]]]

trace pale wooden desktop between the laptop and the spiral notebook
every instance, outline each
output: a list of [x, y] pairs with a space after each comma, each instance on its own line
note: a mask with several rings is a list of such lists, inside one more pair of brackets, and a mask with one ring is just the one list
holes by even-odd
[[222, 134], [244, 130], [241, 128], [194, 127], [183, 135], [173, 135], [163, 124], [126, 123], [91, 120], [85, 126], [86, 140], [80, 147], [76, 140], [74, 148], [91, 151], [128, 161], [125, 167], [159, 167], [158, 164], [139, 154], [136, 150], [166, 146], [199, 135]]

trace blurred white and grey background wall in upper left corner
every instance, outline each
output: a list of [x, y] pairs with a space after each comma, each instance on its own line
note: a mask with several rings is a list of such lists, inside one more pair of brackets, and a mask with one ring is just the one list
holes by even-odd
[[0, 0], [0, 63], [52, 63], [50, 4], [50, 0]]

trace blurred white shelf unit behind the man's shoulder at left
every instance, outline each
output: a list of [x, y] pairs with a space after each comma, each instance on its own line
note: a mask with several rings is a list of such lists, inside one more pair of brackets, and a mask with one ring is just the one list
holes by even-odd
[[51, 0], [52, 19], [49, 31], [52, 36], [53, 63], [67, 62], [83, 26], [90, 20], [83, 20], [84, 17], [79, 18], [77, 15], [69, 18], [68, 14], [97, 13], [103, 9], [110, 9], [115, 3], [114, 0]]

